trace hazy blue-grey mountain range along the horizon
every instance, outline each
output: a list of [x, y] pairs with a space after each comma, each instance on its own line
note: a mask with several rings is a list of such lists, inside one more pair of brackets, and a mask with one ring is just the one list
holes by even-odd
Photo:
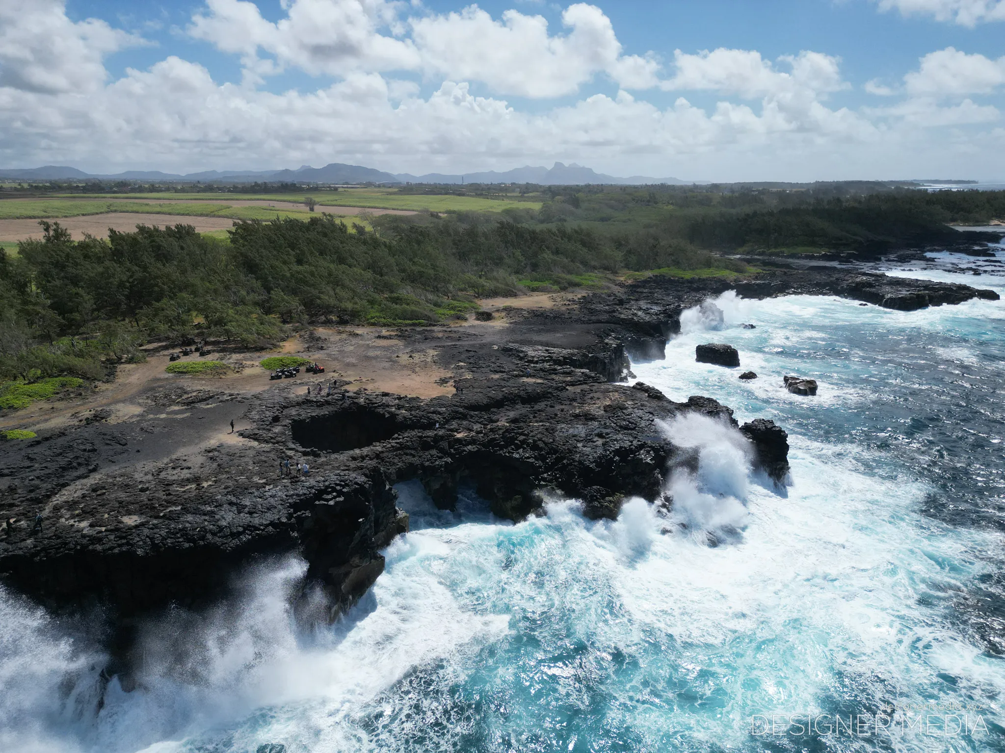
[[0, 178], [20, 179], [27, 181], [64, 181], [64, 180], [113, 180], [113, 181], [202, 181], [204, 183], [252, 183], [268, 181], [269, 183], [534, 183], [541, 186], [577, 186], [584, 184], [609, 184], [617, 186], [641, 186], [647, 184], [688, 185], [687, 181], [676, 178], [647, 178], [631, 176], [630, 178], [615, 178], [614, 176], [597, 173], [591, 168], [581, 165], [563, 165], [555, 163], [549, 168], [530, 166], [517, 168], [506, 173], [488, 171], [487, 173], [465, 173], [463, 175], [442, 175], [429, 173], [414, 176], [407, 173], [395, 175], [373, 168], [359, 165], [343, 165], [332, 163], [324, 168], [312, 168], [307, 165], [296, 170], [266, 170], [266, 171], [234, 171], [218, 172], [210, 170], [202, 173], [176, 175], [160, 171], [130, 170], [116, 175], [89, 175], [76, 168], [56, 167], [47, 165], [44, 168], [25, 170], [0, 170]]

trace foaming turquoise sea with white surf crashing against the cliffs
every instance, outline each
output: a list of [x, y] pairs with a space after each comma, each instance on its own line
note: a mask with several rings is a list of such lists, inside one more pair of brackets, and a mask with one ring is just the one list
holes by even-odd
[[[952, 261], [912, 274], [952, 277]], [[1005, 293], [1005, 277], [979, 283]], [[717, 303], [724, 329], [685, 319], [665, 360], [633, 370], [785, 427], [788, 486], [695, 418], [665, 427], [700, 453], [668, 511], [631, 500], [591, 522], [555, 499], [514, 525], [470, 495], [436, 511], [405, 484], [413, 530], [345, 622], [298, 631], [285, 597], [303, 563], [263, 567], [239, 603], [150, 625], [139, 688], [113, 680], [99, 711], [99, 653], [8, 594], [0, 748], [1002, 750], [1005, 304]], [[708, 341], [736, 345], [759, 379], [695, 363]], [[785, 392], [785, 373], [819, 395]], [[964, 732], [946, 734], [947, 706]], [[889, 709], [935, 727], [790, 724]], [[772, 715], [778, 734], [762, 734]]]

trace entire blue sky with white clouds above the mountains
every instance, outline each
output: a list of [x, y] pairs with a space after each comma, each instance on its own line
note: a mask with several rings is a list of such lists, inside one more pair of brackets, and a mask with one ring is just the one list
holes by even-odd
[[0, 0], [0, 168], [1005, 179], [1005, 0]]

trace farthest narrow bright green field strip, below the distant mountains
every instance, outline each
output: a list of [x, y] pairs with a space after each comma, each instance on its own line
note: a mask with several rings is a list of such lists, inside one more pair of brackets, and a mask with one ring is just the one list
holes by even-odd
[[[69, 194], [57, 195], [68, 198]], [[276, 201], [303, 202], [314, 198], [320, 207], [362, 207], [364, 209], [405, 209], [415, 212], [501, 212], [511, 207], [541, 209], [539, 201], [521, 201], [520, 197], [482, 199], [472, 196], [399, 194], [386, 189], [342, 189], [340, 191], [305, 191], [303, 194], [130, 194], [131, 199], [184, 199], [186, 202]], [[100, 199], [122, 199], [122, 194], [97, 195]], [[42, 200], [39, 200], [42, 201]], [[76, 200], [83, 203], [85, 200]], [[27, 202], [23, 202], [27, 203]], [[2, 202], [0, 202], [2, 204]], [[245, 207], [244, 209], [252, 209]], [[124, 212], [128, 210], [109, 210]], [[5, 215], [0, 214], [0, 217]], [[70, 216], [70, 215], [64, 215]], [[225, 216], [225, 215], [218, 215]], [[228, 215], [227, 215], [228, 216]]]

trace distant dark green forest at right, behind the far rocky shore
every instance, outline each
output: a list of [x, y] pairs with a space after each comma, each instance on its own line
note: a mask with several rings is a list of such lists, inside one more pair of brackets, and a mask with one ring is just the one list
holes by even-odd
[[[725, 252], [794, 250], [879, 253], [960, 240], [948, 224], [1005, 219], [1003, 191], [890, 190], [852, 196], [712, 187], [555, 192], [540, 211], [507, 210], [511, 219], [546, 226], [589, 226], [619, 235], [631, 225], [663, 240]], [[846, 188], [846, 187], [845, 187]], [[842, 189], [843, 190], [843, 189]]]

